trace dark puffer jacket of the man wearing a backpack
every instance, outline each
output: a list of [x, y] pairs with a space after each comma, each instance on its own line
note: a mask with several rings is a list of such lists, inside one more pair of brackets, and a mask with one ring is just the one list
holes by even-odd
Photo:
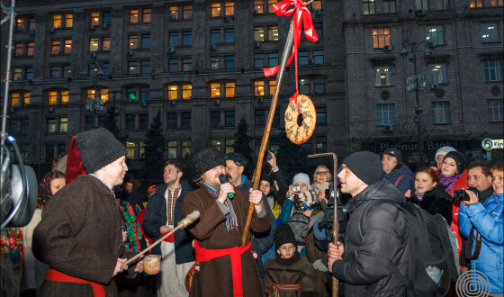
[[332, 272], [345, 282], [347, 296], [405, 296], [405, 286], [389, 269], [390, 261], [407, 278], [410, 265], [408, 226], [401, 212], [390, 203], [369, 209], [365, 229], [361, 220], [365, 205], [373, 200], [404, 202], [404, 196], [387, 180], [371, 184], [347, 202], [345, 253], [333, 263]]

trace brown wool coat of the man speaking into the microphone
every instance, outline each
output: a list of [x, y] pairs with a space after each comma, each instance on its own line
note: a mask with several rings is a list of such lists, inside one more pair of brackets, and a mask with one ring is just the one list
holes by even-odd
[[[226, 217], [220, 211], [215, 198], [202, 186], [198, 190], [187, 193], [182, 203], [184, 216], [192, 211], [200, 211], [200, 218], [189, 228], [200, 247], [229, 248], [241, 246], [241, 235], [247, 220], [248, 194], [235, 187], [235, 197], [231, 200], [238, 219], [238, 228], [228, 232], [225, 227]], [[264, 232], [270, 228], [269, 211], [259, 219], [254, 211], [250, 228]], [[249, 233], [250, 234], [250, 233]], [[256, 260], [250, 251], [241, 255], [243, 275], [243, 295], [261, 296], [263, 289], [261, 278], [257, 271]], [[229, 256], [218, 257], [201, 263], [200, 271], [194, 275], [189, 296], [225, 297], [233, 295], [231, 261]]]

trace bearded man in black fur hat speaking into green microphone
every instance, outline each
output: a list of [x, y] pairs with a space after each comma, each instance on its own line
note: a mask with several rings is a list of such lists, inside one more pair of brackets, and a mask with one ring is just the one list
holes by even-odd
[[[199, 272], [193, 276], [189, 296], [261, 296], [261, 278], [250, 251], [250, 241], [242, 246], [241, 236], [249, 203], [255, 204], [250, 228], [263, 232], [270, 227], [269, 211], [263, 193], [245, 193], [232, 184], [220, 184], [225, 175], [224, 155], [216, 148], [205, 148], [193, 158], [198, 190], [187, 193], [182, 203], [185, 215], [200, 211], [200, 218], [189, 227]], [[234, 193], [230, 198], [229, 193]]]

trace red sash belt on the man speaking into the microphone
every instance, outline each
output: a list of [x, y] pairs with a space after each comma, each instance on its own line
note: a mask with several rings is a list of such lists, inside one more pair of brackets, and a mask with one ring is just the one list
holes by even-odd
[[250, 250], [252, 243], [248, 241], [246, 246], [230, 247], [222, 249], [208, 249], [200, 247], [198, 241], [194, 241], [196, 262], [207, 262], [216, 257], [229, 255], [231, 259], [233, 276], [233, 296], [243, 296], [243, 282], [241, 275], [241, 255]]

